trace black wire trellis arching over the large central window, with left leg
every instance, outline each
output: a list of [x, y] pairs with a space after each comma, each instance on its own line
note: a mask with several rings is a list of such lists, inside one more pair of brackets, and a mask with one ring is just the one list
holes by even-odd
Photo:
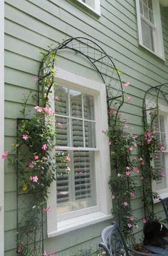
[[[67, 39], [56, 48], [50, 49], [43, 55], [43, 61], [38, 71], [38, 106], [45, 107], [48, 101], [48, 93], [54, 83], [52, 72], [58, 51], [68, 49], [84, 56], [103, 80], [107, 90], [107, 109], [114, 109], [116, 116], [124, 103], [122, 81], [120, 71], [117, 70], [113, 59], [105, 53], [98, 43], [84, 37]], [[46, 79], [48, 88], [45, 88]], [[45, 95], [43, 93], [45, 92]], [[110, 118], [109, 118], [110, 120]], [[19, 122], [19, 120], [18, 120]], [[18, 123], [19, 124], [19, 123]], [[111, 124], [112, 125], [112, 124]], [[34, 193], [23, 193], [19, 183], [20, 175], [28, 163], [28, 152], [25, 148], [17, 150], [17, 254], [28, 251], [29, 255], [43, 254], [43, 214], [39, 212], [38, 226], [33, 222], [33, 203], [39, 198], [39, 191]], [[25, 173], [25, 172], [24, 172]], [[31, 215], [32, 213], [32, 215]], [[31, 253], [31, 254], [30, 254]], [[28, 256], [29, 256], [28, 255]]]

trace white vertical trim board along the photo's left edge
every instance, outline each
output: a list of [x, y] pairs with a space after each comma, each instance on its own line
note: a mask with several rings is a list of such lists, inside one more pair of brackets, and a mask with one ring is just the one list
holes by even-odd
[[[4, 151], [4, 0], [0, 1], [0, 152]], [[0, 160], [0, 255], [4, 255], [4, 160]]]

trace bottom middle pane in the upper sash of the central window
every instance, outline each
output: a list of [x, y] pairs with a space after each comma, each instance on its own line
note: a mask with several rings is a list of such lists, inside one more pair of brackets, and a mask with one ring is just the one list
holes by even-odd
[[83, 147], [83, 121], [72, 119], [73, 147]]

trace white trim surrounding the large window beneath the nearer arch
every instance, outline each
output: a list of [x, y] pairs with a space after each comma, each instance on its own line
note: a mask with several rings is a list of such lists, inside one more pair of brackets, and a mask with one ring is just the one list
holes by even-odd
[[[98, 166], [95, 167], [97, 172], [96, 187], [98, 210], [94, 213], [87, 213], [87, 210], [85, 209], [85, 215], [75, 217], [74, 213], [74, 217], [69, 220], [58, 221], [56, 215], [56, 181], [54, 181], [51, 185], [52, 193], [48, 198], [48, 207], [51, 207], [51, 211], [47, 213], [48, 237], [61, 235], [65, 232], [69, 232], [80, 227], [86, 227], [112, 217], [112, 203], [110, 198], [110, 189], [108, 186], [110, 177], [110, 149], [108, 145], [108, 138], [102, 133], [102, 130], [108, 129], [105, 84], [91, 81], [88, 78], [83, 78], [74, 73], [64, 71], [61, 68], [56, 68], [56, 72], [57, 83], [62, 83], [64, 86], [70, 86], [77, 90], [80, 86], [84, 93], [91, 92], [97, 95], [96, 98], [98, 99], [98, 102], [95, 102], [95, 106], [98, 108], [98, 111], [95, 113], [95, 119], [98, 122], [96, 126], [96, 133], [99, 135], [97, 145], [101, 153], [100, 155], [99, 151], [95, 153], [95, 158], [97, 158], [97, 160], [100, 159], [100, 164], [97, 164]], [[95, 160], [95, 163], [97, 163], [97, 160]]]

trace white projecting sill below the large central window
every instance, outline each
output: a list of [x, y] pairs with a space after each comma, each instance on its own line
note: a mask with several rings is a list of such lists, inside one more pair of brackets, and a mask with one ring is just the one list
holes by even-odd
[[104, 220], [109, 220], [112, 215], [105, 215], [102, 212], [89, 213], [80, 217], [73, 217], [69, 220], [62, 220], [58, 222], [57, 230], [48, 233], [48, 237], [56, 237], [57, 235], [62, 235], [66, 232], [77, 230], [82, 227], [87, 227]]

